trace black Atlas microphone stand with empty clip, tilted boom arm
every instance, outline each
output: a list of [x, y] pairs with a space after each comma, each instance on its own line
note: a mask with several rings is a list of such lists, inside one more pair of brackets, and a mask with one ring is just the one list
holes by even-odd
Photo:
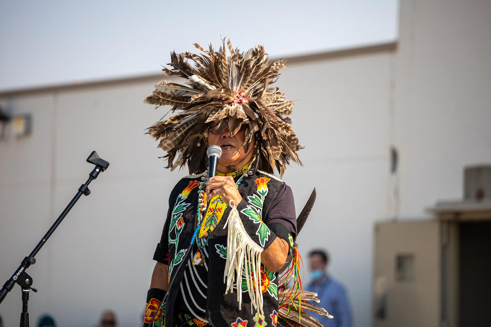
[[38, 291], [36, 288], [32, 287], [33, 279], [31, 276], [29, 276], [26, 273], [26, 269], [36, 263], [36, 258], [34, 258], [34, 256], [39, 252], [41, 247], [45, 245], [46, 241], [49, 239], [51, 234], [53, 234], [56, 227], [58, 227], [58, 225], [61, 223], [63, 218], [65, 218], [68, 211], [70, 211], [70, 209], [78, 201], [78, 199], [82, 196], [82, 194], [85, 196], [91, 194], [91, 191], [89, 190], [88, 187], [90, 182], [96, 179], [99, 173], [101, 171], [106, 170], [107, 167], [109, 166], [108, 162], [99, 158], [96, 151], [92, 151], [89, 158], [87, 158], [87, 162], [96, 165], [94, 170], [92, 170], [91, 173], [89, 173], [89, 179], [84, 184], [82, 184], [82, 186], [79, 187], [75, 197], [66, 206], [66, 208], [60, 214], [58, 219], [56, 219], [56, 221], [51, 226], [51, 228], [49, 228], [48, 232], [45, 234], [45, 236], [43, 236], [43, 239], [38, 243], [38, 245], [36, 245], [36, 247], [32, 250], [31, 254], [29, 254], [29, 256], [26, 256], [24, 260], [22, 260], [22, 263], [20, 264], [19, 268], [15, 270], [12, 277], [10, 277], [10, 279], [7, 280], [5, 284], [3, 284], [0, 290], [0, 303], [1, 303], [5, 298], [5, 296], [7, 295], [7, 293], [13, 288], [15, 283], [19, 284], [20, 287], [22, 288], [22, 313], [20, 316], [20, 327], [29, 327], [29, 313], [27, 311], [27, 304], [29, 301], [29, 291], [31, 289], [34, 292]]

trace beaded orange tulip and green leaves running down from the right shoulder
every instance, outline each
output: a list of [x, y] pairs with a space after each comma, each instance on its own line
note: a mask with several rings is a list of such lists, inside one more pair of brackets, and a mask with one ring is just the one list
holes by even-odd
[[255, 182], [257, 184], [257, 194], [253, 194], [252, 196], [247, 197], [247, 202], [249, 203], [244, 209], [241, 210], [242, 213], [247, 215], [250, 220], [252, 220], [255, 224], [259, 224], [256, 235], [259, 238], [259, 244], [264, 246], [266, 241], [271, 234], [268, 226], [262, 221], [262, 209], [264, 204], [264, 199], [268, 194], [268, 182], [270, 178], [260, 177], [256, 178]]

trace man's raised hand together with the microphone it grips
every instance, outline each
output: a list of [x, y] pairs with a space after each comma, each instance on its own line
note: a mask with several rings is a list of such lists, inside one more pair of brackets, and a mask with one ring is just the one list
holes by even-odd
[[230, 200], [238, 205], [242, 201], [242, 196], [235, 185], [232, 176], [216, 176], [218, 159], [222, 155], [222, 149], [218, 145], [211, 145], [206, 154], [209, 159], [208, 181], [206, 182], [206, 194], [208, 201], [213, 197], [220, 195], [226, 204], [230, 204]]

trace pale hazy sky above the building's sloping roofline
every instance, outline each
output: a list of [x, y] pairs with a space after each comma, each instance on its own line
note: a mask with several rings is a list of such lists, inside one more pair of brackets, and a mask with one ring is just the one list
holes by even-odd
[[397, 0], [0, 0], [0, 91], [158, 73], [221, 37], [271, 57], [397, 39]]

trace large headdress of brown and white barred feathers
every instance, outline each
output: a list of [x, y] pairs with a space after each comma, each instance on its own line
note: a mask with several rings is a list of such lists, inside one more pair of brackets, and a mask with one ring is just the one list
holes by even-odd
[[[285, 60], [268, 62], [262, 45], [240, 52], [230, 41], [223, 41], [218, 51], [203, 49], [201, 54], [171, 53], [171, 69], [167, 76], [187, 79], [188, 85], [160, 81], [145, 99], [153, 105], [171, 105], [176, 115], [148, 128], [159, 140], [158, 147], [167, 152], [167, 167], [188, 165], [190, 173], [206, 168], [208, 128], [218, 133], [228, 128], [235, 135], [245, 126], [245, 150], [254, 142], [256, 164], [272, 173], [276, 167], [283, 175], [290, 161], [300, 163], [296, 152], [303, 148], [292, 130], [291, 120], [295, 101], [286, 100], [276, 82]], [[228, 50], [228, 54], [227, 54]], [[176, 158], [177, 157], [177, 158]]]

